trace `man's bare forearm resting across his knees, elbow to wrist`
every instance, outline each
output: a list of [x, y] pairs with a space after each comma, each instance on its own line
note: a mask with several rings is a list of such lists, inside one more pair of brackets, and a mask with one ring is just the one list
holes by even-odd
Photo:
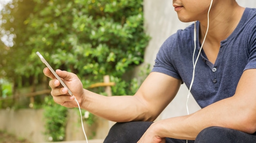
[[[235, 102], [235, 97], [224, 99], [190, 115], [165, 119], [152, 125], [157, 136], [194, 140], [200, 131], [211, 126], [220, 126], [253, 133], [255, 115], [245, 109], [246, 102]], [[248, 118], [254, 119], [250, 120]]]

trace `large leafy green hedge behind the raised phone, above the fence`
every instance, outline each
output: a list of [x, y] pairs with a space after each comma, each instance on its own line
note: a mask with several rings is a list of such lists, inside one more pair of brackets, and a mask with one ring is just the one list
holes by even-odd
[[[18, 19], [20, 25], [7, 22], [1, 26], [2, 29], [14, 27], [11, 33], [16, 35], [16, 44], [9, 50], [2, 49], [7, 53], [4, 58], [16, 55], [5, 61], [4, 66], [9, 62], [16, 63], [15, 75], [18, 77], [34, 75], [40, 79], [44, 65], [36, 51], [45, 55], [55, 68], [76, 73], [90, 83], [98, 82], [103, 75], [121, 77], [126, 70], [143, 62], [149, 37], [144, 33], [142, 0], [34, 0], [17, 3], [19, 8], [24, 4], [34, 6], [31, 14], [25, 13]], [[13, 10], [15, 18], [21, 12], [18, 8], [16, 10]], [[11, 68], [4, 69], [4, 73], [12, 79], [7, 74], [9, 70]]]

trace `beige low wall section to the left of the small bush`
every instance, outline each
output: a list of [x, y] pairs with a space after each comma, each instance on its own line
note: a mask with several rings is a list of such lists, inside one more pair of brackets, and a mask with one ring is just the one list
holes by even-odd
[[45, 141], [43, 110], [0, 110], [0, 130], [30, 141]]

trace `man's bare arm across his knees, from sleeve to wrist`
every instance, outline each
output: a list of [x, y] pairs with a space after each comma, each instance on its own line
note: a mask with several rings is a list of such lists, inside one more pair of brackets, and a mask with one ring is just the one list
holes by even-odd
[[[159, 137], [195, 139], [200, 131], [211, 126], [256, 132], [256, 70], [245, 70], [234, 96], [213, 103], [193, 114], [156, 122]], [[154, 128], [154, 127], [153, 127]]]

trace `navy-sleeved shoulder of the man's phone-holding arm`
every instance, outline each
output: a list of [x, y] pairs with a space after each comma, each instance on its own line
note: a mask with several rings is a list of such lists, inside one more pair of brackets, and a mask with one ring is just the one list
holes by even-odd
[[191, 61], [193, 55], [193, 24], [178, 30], [160, 47], [152, 71], [181, 79], [177, 68]]

